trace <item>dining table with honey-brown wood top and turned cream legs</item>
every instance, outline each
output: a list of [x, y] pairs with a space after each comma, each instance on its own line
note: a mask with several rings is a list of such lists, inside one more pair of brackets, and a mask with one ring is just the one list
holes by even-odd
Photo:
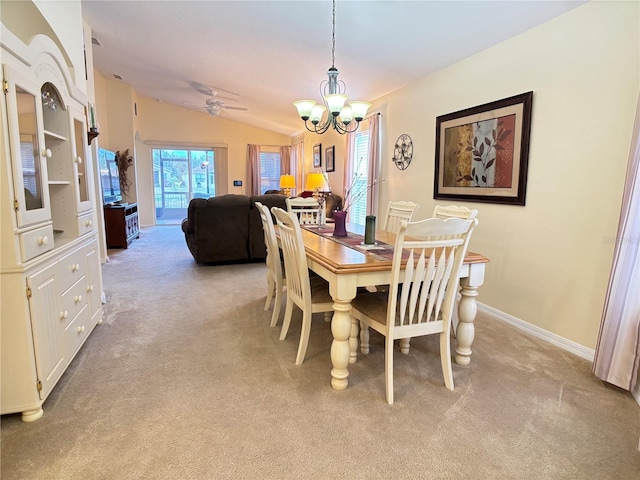
[[[329, 283], [333, 299], [331, 319], [331, 386], [344, 390], [349, 384], [350, 363], [357, 361], [359, 324], [351, 317], [351, 300], [359, 287], [388, 285], [396, 235], [384, 230], [375, 231], [375, 243], [365, 245], [364, 227], [347, 224], [347, 236], [333, 236], [333, 225], [302, 225], [309, 269]], [[276, 227], [277, 234], [277, 227]], [[475, 335], [473, 322], [477, 313], [476, 296], [484, 282], [484, 255], [466, 252], [460, 268], [460, 296], [457, 326], [454, 330], [456, 348], [454, 360], [469, 365], [471, 345]]]

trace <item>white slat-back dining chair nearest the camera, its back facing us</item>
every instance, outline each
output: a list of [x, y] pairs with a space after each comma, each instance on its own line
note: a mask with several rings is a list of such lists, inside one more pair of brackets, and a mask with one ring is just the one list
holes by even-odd
[[[360, 293], [351, 302], [351, 315], [360, 320], [361, 325], [361, 353], [369, 353], [369, 327], [385, 336], [385, 385], [389, 404], [394, 401], [395, 339], [438, 334], [445, 386], [453, 390], [451, 316], [466, 237], [476, 224], [475, 219], [459, 218], [403, 220], [396, 235], [389, 291]], [[409, 252], [404, 270], [403, 250]]]

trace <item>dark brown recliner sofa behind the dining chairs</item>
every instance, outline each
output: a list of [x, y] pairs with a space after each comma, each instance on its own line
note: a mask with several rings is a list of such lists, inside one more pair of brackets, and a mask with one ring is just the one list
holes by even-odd
[[267, 248], [255, 202], [286, 209], [285, 198], [229, 194], [191, 200], [182, 231], [196, 263], [264, 261]]

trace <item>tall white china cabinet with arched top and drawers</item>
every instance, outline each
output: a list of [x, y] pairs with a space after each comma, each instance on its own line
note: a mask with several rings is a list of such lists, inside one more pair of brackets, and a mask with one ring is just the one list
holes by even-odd
[[0, 407], [33, 421], [102, 319], [96, 195], [68, 57], [44, 35], [1, 41]]

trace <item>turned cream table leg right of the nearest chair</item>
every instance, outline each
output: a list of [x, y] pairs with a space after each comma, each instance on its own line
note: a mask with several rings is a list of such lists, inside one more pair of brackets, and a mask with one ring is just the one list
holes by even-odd
[[458, 328], [456, 329], [455, 361], [458, 365], [469, 365], [471, 363], [471, 345], [475, 336], [473, 325], [476, 319], [478, 307], [476, 297], [478, 288], [484, 282], [484, 264], [473, 264], [469, 266], [469, 275], [460, 279], [460, 303], [458, 304]]

